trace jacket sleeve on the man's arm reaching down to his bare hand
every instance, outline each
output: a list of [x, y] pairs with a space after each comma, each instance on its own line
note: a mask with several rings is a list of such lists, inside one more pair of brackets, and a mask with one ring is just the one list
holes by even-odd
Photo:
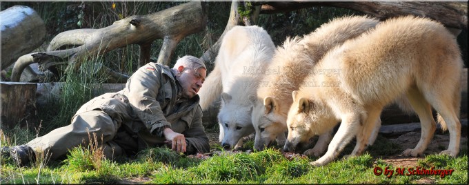
[[[155, 65], [157, 66], [157, 65]], [[145, 124], [150, 133], [161, 137], [159, 128], [170, 126], [157, 101], [161, 84], [161, 68], [149, 64], [139, 68], [127, 81], [128, 99], [135, 114]]]

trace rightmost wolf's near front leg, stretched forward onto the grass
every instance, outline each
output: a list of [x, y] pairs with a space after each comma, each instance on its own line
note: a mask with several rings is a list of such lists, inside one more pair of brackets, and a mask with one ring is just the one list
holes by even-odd
[[323, 157], [317, 159], [315, 162], [310, 162], [314, 166], [324, 166], [332, 160], [347, 146], [350, 140], [357, 135], [359, 128], [360, 115], [350, 114], [343, 117], [339, 130], [332, 138], [329, 144], [328, 151]]

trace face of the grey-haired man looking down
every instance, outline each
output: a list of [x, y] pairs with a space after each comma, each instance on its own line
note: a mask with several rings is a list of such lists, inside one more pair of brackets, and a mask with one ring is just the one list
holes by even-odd
[[178, 75], [176, 78], [182, 86], [182, 96], [191, 98], [197, 95], [202, 87], [203, 81], [206, 79], [207, 70], [205, 68], [193, 70], [183, 68], [183, 66], [180, 66], [177, 70]]

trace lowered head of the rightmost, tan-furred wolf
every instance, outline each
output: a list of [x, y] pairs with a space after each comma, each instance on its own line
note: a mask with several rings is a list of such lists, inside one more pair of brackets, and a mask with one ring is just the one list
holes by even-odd
[[315, 135], [326, 133], [337, 123], [326, 106], [298, 94], [297, 90], [292, 92], [293, 104], [287, 119], [288, 137], [283, 147], [285, 151], [294, 151], [298, 144], [308, 142]]

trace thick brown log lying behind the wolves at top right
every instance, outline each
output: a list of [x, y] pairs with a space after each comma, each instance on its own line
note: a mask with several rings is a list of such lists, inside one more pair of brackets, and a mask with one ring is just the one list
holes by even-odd
[[377, 17], [381, 20], [405, 14], [415, 14], [429, 17], [443, 23], [446, 27], [468, 29], [467, 2], [425, 2], [425, 1], [289, 1], [266, 2], [261, 7], [261, 13], [290, 12], [312, 6], [333, 6], [357, 10]]

